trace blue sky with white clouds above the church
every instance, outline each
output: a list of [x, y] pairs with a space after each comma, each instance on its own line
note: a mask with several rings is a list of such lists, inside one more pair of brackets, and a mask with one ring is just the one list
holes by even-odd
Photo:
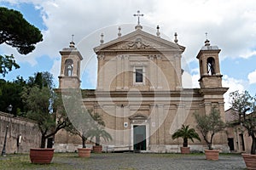
[[38, 71], [49, 71], [55, 77], [61, 68], [61, 51], [72, 40], [83, 55], [81, 88], [96, 88], [96, 54], [93, 48], [134, 31], [140, 10], [143, 31], [173, 41], [174, 33], [183, 53], [183, 87], [199, 88], [199, 65], [196, 55], [207, 39], [221, 49], [219, 54], [225, 109], [230, 107], [229, 94], [235, 90], [256, 94], [256, 1], [255, 0], [0, 0], [0, 6], [20, 11], [24, 18], [42, 32], [44, 41], [27, 55], [15, 48], [0, 45], [0, 54], [14, 54], [20, 69], [9, 72], [12, 81], [17, 76], [32, 76]]

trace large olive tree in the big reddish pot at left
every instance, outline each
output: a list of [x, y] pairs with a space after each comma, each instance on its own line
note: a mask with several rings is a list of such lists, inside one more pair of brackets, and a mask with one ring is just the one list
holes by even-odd
[[37, 122], [41, 132], [40, 148], [30, 149], [32, 163], [50, 163], [54, 149], [45, 148], [46, 140], [62, 128], [71, 125], [64, 108], [61, 107], [60, 96], [55, 95], [52, 90], [52, 81], [52, 76], [48, 72], [38, 72], [35, 77], [30, 77], [30, 87], [24, 88], [21, 93], [26, 105], [26, 117]]

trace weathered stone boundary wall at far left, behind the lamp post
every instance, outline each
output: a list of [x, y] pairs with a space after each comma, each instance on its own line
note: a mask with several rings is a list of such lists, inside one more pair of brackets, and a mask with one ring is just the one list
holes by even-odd
[[[7, 154], [26, 153], [30, 148], [40, 146], [41, 133], [37, 123], [24, 117], [14, 117], [0, 112], [0, 151], [3, 150], [6, 129], [8, 129], [5, 148]], [[20, 144], [18, 144], [19, 139]]]

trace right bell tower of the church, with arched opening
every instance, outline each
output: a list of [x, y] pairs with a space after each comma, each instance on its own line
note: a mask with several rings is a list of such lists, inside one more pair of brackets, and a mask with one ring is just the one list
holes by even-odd
[[205, 41], [196, 58], [200, 66], [200, 87], [201, 88], [222, 88], [222, 75], [220, 74], [218, 46], [211, 46], [210, 41]]

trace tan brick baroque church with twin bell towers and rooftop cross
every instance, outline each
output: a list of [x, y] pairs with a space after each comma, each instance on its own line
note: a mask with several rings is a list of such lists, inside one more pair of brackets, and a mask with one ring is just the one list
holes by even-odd
[[[139, 19], [139, 18], [138, 18]], [[217, 107], [224, 120], [224, 93], [218, 46], [206, 40], [196, 59], [200, 67], [200, 88], [183, 88], [181, 59], [185, 47], [143, 31], [135, 30], [94, 48], [97, 57], [96, 89], [81, 89], [86, 108], [102, 116], [113, 140], [102, 141], [112, 150], [179, 152], [183, 139], [172, 134], [183, 124], [196, 129], [194, 114], [209, 114]], [[63, 48], [59, 89], [80, 88], [83, 57], [74, 42]], [[199, 133], [199, 132], [198, 132]], [[200, 134], [201, 135], [201, 134]], [[202, 137], [201, 137], [202, 139]], [[55, 135], [55, 151], [75, 150], [81, 139], [61, 131]], [[227, 136], [218, 133], [213, 146], [228, 151]], [[203, 150], [205, 142], [189, 142], [190, 150]]]

